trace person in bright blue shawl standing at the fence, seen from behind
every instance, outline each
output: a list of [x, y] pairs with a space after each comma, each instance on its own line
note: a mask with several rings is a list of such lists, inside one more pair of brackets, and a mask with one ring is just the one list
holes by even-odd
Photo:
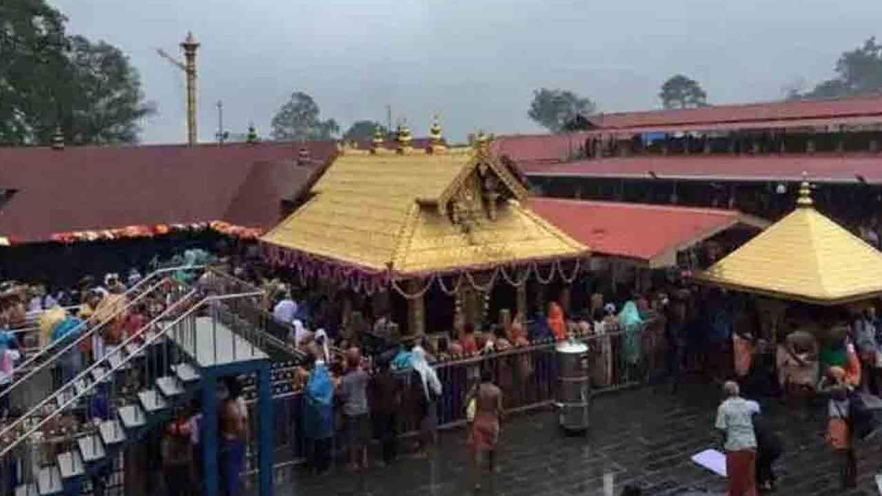
[[331, 465], [333, 439], [333, 381], [324, 360], [317, 360], [306, 382], [303, 433], [310, 467], [323, 473]]

